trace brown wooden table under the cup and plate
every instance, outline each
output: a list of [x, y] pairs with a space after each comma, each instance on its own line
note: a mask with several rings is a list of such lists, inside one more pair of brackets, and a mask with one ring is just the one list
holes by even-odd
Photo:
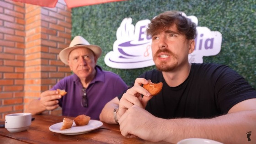
[[[18, 133], [10, 133], [5, 128], [0, 128], [1, 144], [154, 144], [140, 138], [125, 138], [119, 125], [106, 124], [99, 129], [79, 135], [65, 135], [49, 130], [52, 124], [62, 122], [64, 116], [56, 115], [32, 115], [35, 120], [26, 130]], [[72, 117], [68, 117], [74, 119]], [[1, 119], [0, 124], [4, 124]], [[158, 142], [157, 144], [165, 144]]]

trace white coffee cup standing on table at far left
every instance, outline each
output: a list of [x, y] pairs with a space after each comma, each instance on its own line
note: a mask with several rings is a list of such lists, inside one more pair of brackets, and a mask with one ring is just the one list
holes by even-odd
[[5, 128], [11, 133], [27, 130], [31, 119], [31, 113], [7, 114], [5, 115]]

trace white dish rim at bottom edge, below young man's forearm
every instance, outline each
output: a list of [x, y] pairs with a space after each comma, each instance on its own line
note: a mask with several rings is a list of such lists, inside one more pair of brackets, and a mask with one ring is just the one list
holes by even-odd
[[199, 138], [191, 138], [191, 139], [182, 139], [177, 144], [223, 144], [215, 140], [211, 139], [199, 139]]

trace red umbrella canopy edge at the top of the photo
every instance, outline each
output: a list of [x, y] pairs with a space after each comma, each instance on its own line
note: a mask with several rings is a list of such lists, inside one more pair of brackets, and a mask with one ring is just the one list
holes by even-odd
[[[23, 2], [27, 4], [32, 5], [40, 5], [40, 6], [46, 6], [46, 7], [55, 7], [58, 0], [13, 0], [18, 2]], [[102, 3], [108, 3], [108, 2], [114, 2], [114, 1], [123, 1], [123, 0], [65, 0], [68, 8], [74, 8], [79, 6], [85, 6], [85, 5], [96, 5], [96, 4], [102, 4]]]

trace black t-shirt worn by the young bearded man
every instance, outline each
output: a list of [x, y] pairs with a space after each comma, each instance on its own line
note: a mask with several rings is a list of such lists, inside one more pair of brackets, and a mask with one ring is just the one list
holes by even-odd
[[225, 65], [192, 64], [187, 79], [176, 87], [168, 86], [158, 70], [147, 71], [139, 77], [153, 83], [163, 82], [160, 94], [150, 99], [145, 109], [165, 119], [212, 118], [227, 114], [243, 100], [256, 98], [256, 90]]

